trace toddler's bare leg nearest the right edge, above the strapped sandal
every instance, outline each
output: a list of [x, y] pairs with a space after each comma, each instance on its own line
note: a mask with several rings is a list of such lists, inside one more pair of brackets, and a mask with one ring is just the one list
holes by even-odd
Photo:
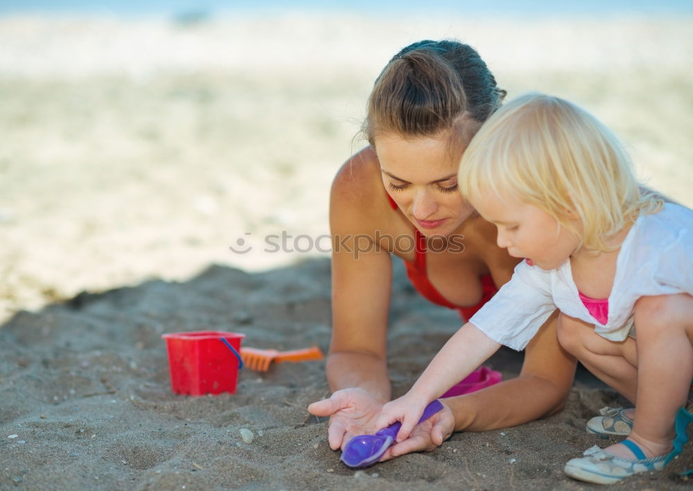
[[693, 377], [693, 296], [640, 298], [635, 337], [638, 403], [629, 440], [648, 457], [658, 456], [672, 449], [676, 410], [686, 404]]

